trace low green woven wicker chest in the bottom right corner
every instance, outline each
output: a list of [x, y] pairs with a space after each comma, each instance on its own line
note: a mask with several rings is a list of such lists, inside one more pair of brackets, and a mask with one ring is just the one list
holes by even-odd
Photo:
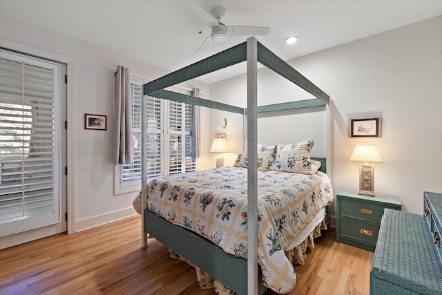
[[442, 270], [424, 216], [385, 209], [370, 294], [442, 294]]

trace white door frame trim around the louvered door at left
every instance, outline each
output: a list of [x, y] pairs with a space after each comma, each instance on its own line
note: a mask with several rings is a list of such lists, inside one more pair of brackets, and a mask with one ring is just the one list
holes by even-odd
[[20, 44], [15, 41], [0, 38], [0, 48], [17, 51], [26, 55], [34, 55], [43, 59], [57, 61], [61, 64], [66, 64], [66, 73], [68, 75], [68, 82], [66, 85], [66, 121], [68, 126], [66, 129], [66, 165], [68, 167], [68, 175], [66, 175], [66, 212], [68, 213], [68, 220], [66, 220], [66, 231], [68, 234], [75, 233], [75, 129], [74, 129], [74, 59], [66, 55], [52, 53], [44, 50]]

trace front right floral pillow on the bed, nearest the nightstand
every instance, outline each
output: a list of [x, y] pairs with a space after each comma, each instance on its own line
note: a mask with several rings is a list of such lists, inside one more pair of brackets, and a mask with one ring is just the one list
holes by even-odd
[[314, 140], [305, 140], [298, 144], [278, 144], [273, 170], [313, 174], [310, 154], [314, 144]]

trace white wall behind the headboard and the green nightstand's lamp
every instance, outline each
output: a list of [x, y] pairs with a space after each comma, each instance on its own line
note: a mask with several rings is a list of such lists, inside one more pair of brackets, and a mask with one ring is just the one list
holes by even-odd
[[[381, 115], [383, 120], [382, 137], [366, 140], [376, 144], [385, 161], [375, 164], [375, 192], [399, 196], [403, 210], [413, 213], [422, 212], [423, 191], [442, 193], [441, 32], [442, 16], [289, 61], [333, 99], [331, 164], [335, 194], [339, 189], [358, 189], [359, 163], [349, 158], [354, 146], [365, 140], [348, 137], [348, 122], [350, 117], [369, 115]], [[272, 91], [278, 93], [277, 99], [287, 99], [291, 93], [287, 85], [260, 77], [258, 97], [265, 97], [262, 102], [270, 99]], [[233, 103], [240, 97], [245, 104], [244, 81], [242, 75], [211, 84], [211, 98]], [[218, 132], [220, 117], [211, 112], [210, 134]], [[292, 142], [307, 137], [325, 140], [325, 129], [321, 129], [325, 113], [266, 120], [258, 120], [258, 142]], [[227, 138], [239, 153], [242, 138], [229, 133]], [[325, 149], [315, 146], [313, 153], [325, 155]]]

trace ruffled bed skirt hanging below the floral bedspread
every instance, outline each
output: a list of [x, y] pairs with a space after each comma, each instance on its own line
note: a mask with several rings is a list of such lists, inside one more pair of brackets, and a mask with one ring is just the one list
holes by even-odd
[[[289, 251], [285, 251], [285, 256], [287, 256], [287, 258], [289, 258], [289, 260], [291, 261], [291, 263], [293, 265], [305, 265], [305, 256], [306, 256], [307, 249], [308, 248], [313, 249], [315, 247], [314, 239], [321, 236], [320, 231], [326, 230], [328, 223], [329, 223], [329, 218], [328, 218], [327, 213], [325, 213], [325, 216], [323, 216], [322, 220], [320, 220], [320, 222], [314, 227], [314, 229], [312, 229], [311, 231], [309, 231], [307, 233], [307, 238], [302, 240], [302, 242], [300, 242], [300, 244], [298, 246], [294, 247], [294, 249], [291, 249]], [[215, 294], [220, 294], [220, 295], [236, 294], [236, 292], [233, 292], [233, 290], [229, 289], [229, 287], [227, 287], [226, 285], [224, 285], [220, 281], [215, 280], [212, 276], [210, 276], [209, 274], [204, 272], [199, 267], [196, 267], [191, 262], [182, 258], [179, 254], [177, 254], [172, 249], [169, 249], [169, 253], [171, 254], [171, 258], [183, 260], [186, 263], [188, 263], [189, 265], [191, 265], [191, 267], [195, 268], [196, 276], [198, 278], [198, 284], [200, 285], [200, 287], [202, 289], [213, 288], [213, 289], [215, 289]], [[265, 285], [265, 283], [264, 283], [264, 285]]]

